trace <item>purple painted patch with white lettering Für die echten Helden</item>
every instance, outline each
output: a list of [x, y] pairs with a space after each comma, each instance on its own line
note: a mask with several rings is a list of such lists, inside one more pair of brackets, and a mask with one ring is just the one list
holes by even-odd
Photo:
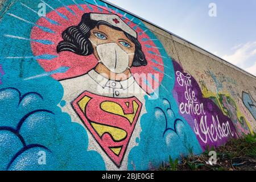
[[213, 101], [203, 98], [195, 78], [184, 73], [175, 61], [174, 68], [176, 81], [173, 94], [179, 103], [180, 113], [189, 121], [201, 147], [220, 146], [229, 138], [237, 137], [232, 120]]

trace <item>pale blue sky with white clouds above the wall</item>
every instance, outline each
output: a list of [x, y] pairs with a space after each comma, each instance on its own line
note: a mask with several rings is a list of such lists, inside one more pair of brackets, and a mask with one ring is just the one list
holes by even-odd
[[108, 1], [256, 76], [255, 0]]

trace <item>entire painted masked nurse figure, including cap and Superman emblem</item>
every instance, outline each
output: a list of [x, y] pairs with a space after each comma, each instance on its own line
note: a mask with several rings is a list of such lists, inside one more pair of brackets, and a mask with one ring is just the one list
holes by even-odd
[[130, 140], [135, 144], [139, 137], [139, 120], [146, 113], [147, 93], [130, 71], [147, 65], [137, 32], [117, 15], [86, 13], [62, 38], [57, 52], [73, 52], [84, 61], [93, 54], [98, 60], [85, 75], [60, 81], [67, 103], [62, 109], [90, 131], [89, 146], [120, 167], [125, 152], [133, 147], [128, 147]]

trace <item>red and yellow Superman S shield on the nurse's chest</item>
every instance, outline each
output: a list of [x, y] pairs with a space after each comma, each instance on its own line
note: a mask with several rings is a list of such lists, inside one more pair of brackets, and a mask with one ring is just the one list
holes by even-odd
[[73, 108], [110, 159], [121, 166], [142, 104], [136, 97], [111, 98], [84, 92]]

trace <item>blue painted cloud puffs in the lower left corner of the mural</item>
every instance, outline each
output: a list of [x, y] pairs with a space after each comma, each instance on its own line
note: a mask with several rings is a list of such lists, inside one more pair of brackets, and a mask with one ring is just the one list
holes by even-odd
[[[0, 107], [1, 170], [105, 169], [100, 154], [87, 151], [85, 129], [60, 109], [49, 110], [41, 94], [0, 89]], [[46, 164], [38, 162], [39, 152]]]

